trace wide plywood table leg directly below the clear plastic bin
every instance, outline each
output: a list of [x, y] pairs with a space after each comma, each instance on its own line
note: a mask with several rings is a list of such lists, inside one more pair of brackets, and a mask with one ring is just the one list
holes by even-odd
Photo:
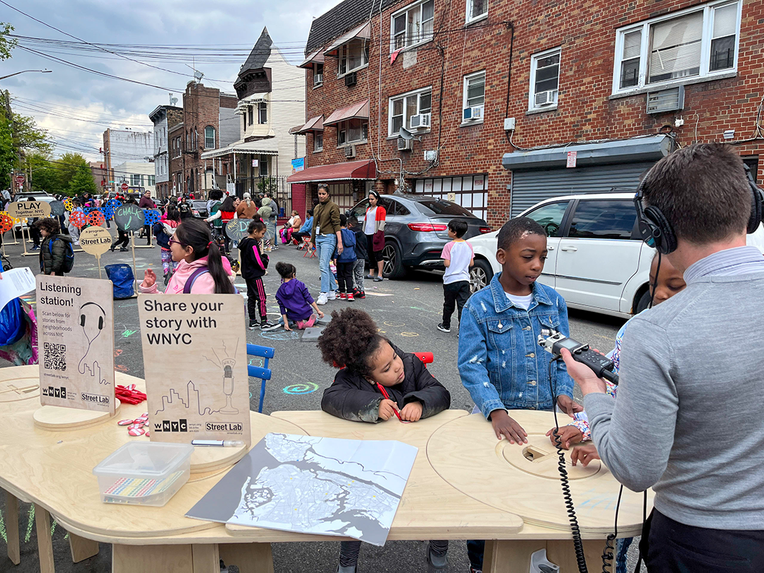
[[[112, 573], [189, 573], [191, 545], [112, 545]], [[220, 565], [216, 570], [219, 573]]]

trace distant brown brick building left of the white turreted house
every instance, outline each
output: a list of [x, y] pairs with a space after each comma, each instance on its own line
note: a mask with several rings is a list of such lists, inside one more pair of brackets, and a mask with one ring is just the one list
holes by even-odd
[[206, 196], [215, 185], [212, 165], [205, 163], [206, 150], [225, 147], [238, 139], [238, 100], [217, 88], [189, 82], [183, 93], [183, 118], [168, 125], [170, 193]]

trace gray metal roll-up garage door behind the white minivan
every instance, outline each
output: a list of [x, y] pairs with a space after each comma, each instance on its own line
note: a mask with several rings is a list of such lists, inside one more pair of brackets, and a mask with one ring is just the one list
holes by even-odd
[[655, 163], [621, 163], [554, 169], [514, 170], [511, 186], [511, 212], [516, 217], [544, 199], [581, 193], [607, 193], [613, 187], [633, 189]]

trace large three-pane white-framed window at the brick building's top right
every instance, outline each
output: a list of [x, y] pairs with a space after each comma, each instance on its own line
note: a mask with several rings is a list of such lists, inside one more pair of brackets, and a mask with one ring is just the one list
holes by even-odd
[[713, 2], [621, 28], [613, 93], [735, 70], [740, 2]]

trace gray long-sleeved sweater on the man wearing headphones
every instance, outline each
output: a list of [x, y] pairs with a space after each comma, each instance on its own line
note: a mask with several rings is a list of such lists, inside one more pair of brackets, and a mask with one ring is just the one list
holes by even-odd
[[688, 268], [684, 291], [630, 321], [618, 399], [584, 398], [617, 480], [652, 487], [689, 526], [764, 529], [764, 257], [751, 249]]

